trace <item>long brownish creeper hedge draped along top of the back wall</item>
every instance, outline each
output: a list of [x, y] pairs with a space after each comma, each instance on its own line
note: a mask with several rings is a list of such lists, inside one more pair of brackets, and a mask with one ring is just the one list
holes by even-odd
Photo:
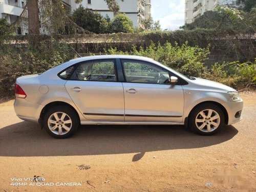
[[[177, 31], [144, 31], [140, 33], [113, 33], [113, 34], [74, 34], [74, 35], [40, 35], [38, 40], [49, 40], [54, 38], [62, 42], [69, 42], [76, 48], [77, 52], [99, 53], [102, 49], [119, 47], [121, 50], [129, 50], [131, 45], [150, 46], [154, 44], [164, 45], [170, 42], [173, 46], [177, 42], [179, 46], [186, 41], [188, 46], [198, 46], [210, 50], [222, 50], [223, 53], [237, 58], [240, 61], [252, 61], [256, 57], [256, 36], [252, 34], [236, 34], [234, 31], [221, 31], [216, 29], [194, 29]], [[10, 37], [10, 40], [23, 42], [26, 45], [28, 36]], [[90, 50], [90, 44], [94, 49]], [[116, 45], [118, 44], [118, 45]], [[120, 45], [120, 46], [119, 46]]]

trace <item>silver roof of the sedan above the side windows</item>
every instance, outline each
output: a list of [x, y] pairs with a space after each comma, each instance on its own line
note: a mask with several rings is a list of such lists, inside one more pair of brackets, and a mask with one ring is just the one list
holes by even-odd
[[148, 57], [142, 57], [137, 55], [95, 55], [95, 56], [87, 56], [87, 57], [78, 57], [75, 59], [72, 59], [70, 61], [80, 62], [80, 61], [86, 61], [91, 59], [114, 59], [114, 58], [120, 58], [120, 59], [140, 59], [144, 61], [152, 61], [152, 58]]

